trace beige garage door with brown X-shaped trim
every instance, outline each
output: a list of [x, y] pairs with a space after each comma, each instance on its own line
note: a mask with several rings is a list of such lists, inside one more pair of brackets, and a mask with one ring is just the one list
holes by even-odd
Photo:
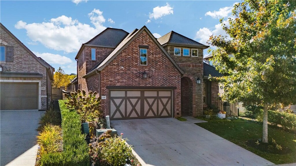
[[172, 117], [172, 90], [111, 90], [110, 119]]

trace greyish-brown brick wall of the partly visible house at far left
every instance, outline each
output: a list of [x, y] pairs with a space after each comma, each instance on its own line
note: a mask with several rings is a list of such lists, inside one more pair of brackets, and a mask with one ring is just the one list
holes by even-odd
[[[41, 87], [46, 87], [46, 67], [41, 65], [28, 51], [12, 38], [2, 27], [0, 30], [1, 40], [7, 46], [13, 46], [13, 62], [0, 62], [1, 65], [10, 69], [11, 72], [37, 72], [42, 78], [1, 77], [1, 80], [41, 80]], [[5, 70], [5, 68], [3, 68]], [[49, 80], [50, 82], [50, 80]], [[41, 109], [46, 109], [46, 89], [41, 90]]]

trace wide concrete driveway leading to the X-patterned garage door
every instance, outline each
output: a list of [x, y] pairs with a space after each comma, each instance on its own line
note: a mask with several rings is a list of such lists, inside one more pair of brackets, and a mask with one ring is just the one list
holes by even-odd
[[274, 165], [194, 123], [159, 118], [111, 126], [129, 139], [142, 165]]

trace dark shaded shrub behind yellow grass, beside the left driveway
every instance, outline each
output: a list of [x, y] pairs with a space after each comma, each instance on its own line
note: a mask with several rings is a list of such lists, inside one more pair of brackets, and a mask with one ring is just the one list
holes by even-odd
[[45, 114], [41, 116], [39, 121], [40, 126], [38, 127], [37, 130], [42, 131], [42, 128], [47, 124], [60, 126], [61, 121], [62, 119], [59, 111], [55, 111], [53, 109], [47, 110]]

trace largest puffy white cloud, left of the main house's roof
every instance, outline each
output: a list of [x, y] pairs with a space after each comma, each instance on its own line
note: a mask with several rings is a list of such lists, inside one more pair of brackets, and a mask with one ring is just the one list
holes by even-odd
[[27, 24], [21, 20], [16, 23], [15, 28], [27, 30], [32, 42], [40, 42], [47, 48], [71, 53], [78, 51], [82, 43], [106, 29], [103, 26], [105, 19], [102, 13], [99, 9], [89, 13], [91, 23], [95, 27], [62, 15], [42, 23]]

